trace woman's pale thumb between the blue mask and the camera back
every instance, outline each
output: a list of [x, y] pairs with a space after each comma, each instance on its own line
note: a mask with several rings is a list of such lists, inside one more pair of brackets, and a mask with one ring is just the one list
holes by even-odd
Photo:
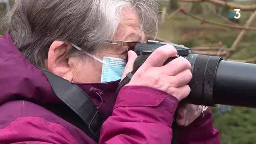
[[128, 62], [126, 64], [126, 66], [125, 66], [125, 71], [123, 72], [122, 80], [123, 80], [123, 78], [126, 77], [128, 72], [132, 72], [133, 71], [133, 64], [134, 64], [134, 61], [136, 60], [137, 57], [138, 56], [137, 56], [137, 54], [134, 51], [128, 51]]

